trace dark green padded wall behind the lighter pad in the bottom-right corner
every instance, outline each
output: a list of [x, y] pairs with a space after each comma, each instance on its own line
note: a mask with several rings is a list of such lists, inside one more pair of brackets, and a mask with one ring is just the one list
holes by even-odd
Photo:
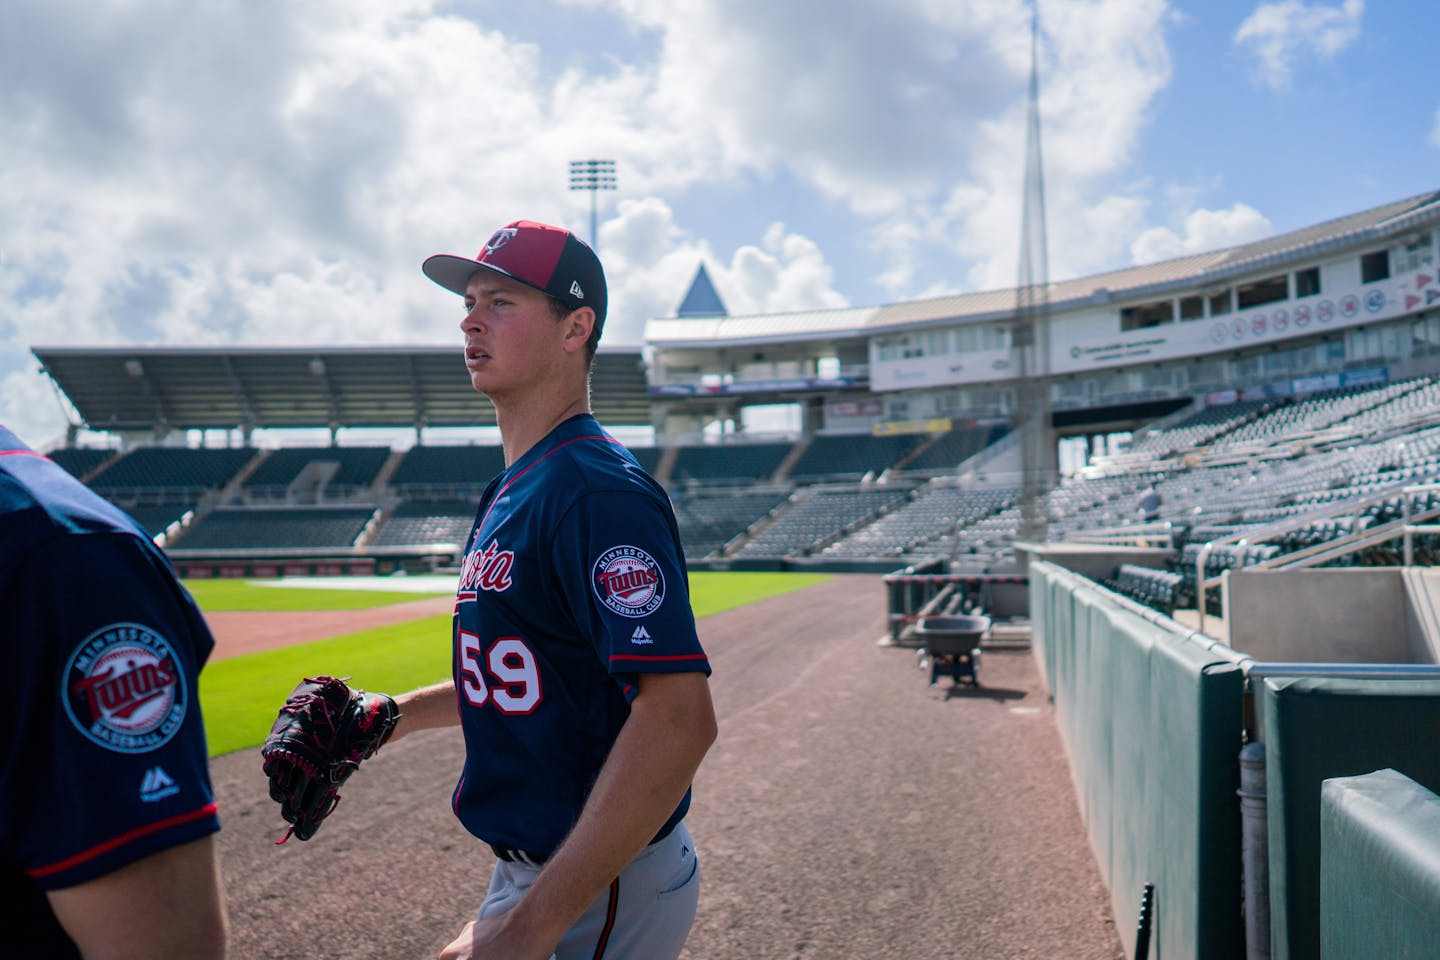
[[1310, 960], [1320, 956], [1320, 783], [1391, 767], [1440, 790], [1440, 681], [1269, 678], [1263, 697], [1270, 956]]

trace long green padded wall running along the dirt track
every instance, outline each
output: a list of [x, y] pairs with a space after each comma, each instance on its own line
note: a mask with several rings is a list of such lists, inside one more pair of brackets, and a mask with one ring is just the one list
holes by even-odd
[[1053, 564], [1030, 583], [1032, 655], [1126, 953], [1149, 882], [1153, 957], [1241, 956], [1241, 658]]

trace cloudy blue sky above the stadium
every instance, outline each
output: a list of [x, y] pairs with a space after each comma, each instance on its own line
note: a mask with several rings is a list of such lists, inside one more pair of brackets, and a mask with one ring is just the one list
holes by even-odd
[[[1433, 0], [1040, 0], [1053, 278], [1440, 189]], [[1009, 286], [1015, 0], [7, 0], [0, 423], [32, 345], [456, 343], [419, 272], [589, 235], [606, 340], [703, 261], [733, 314]]]

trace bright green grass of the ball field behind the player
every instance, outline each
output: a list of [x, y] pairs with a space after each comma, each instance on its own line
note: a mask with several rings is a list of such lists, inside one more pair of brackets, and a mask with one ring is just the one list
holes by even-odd
[[[812, 573], [693, 573], [690, 606], [696, 617], [703, 617], [828, 579]], [[186, 587], [206, 612], [354, 610], [435, 596], [285, 589], [240, 580], [189, 580]], [[446, 679], [449, 665], [449, 615], [213, 662], [200, 674], [200, 710], [210, 756], [258, 747], [275, 711], [302, 676], [350, 676], [356, 687], [400, 692]]]

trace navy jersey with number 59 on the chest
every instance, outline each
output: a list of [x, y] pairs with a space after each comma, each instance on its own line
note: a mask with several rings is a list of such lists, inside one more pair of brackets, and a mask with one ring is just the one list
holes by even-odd
[[694, 671], [710, 664], [670, 498], [592, 416], [572, 417], [491, 481], [471, 531], [455, 600], [455, 815], [494, 846], [549, 856], [638, 675]]

